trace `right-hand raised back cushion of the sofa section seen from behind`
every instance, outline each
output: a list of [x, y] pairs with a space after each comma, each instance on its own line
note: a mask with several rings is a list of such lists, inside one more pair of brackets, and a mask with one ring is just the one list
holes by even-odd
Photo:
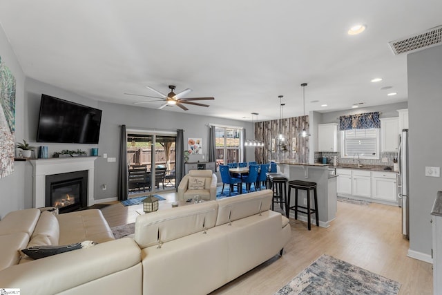
[[245, 218], [270, 209], [273, 193], [270, 189], [244, 193], [218, 200], [218, 218], [216, 225], [224, 225], [234, 220]]

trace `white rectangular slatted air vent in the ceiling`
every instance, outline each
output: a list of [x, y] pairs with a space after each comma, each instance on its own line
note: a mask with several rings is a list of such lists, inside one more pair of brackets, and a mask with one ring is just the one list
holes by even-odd
[[442, 26], [437, 26], [417, 35], [389, 42], [394, 55], [412, 53], [442, 44]]

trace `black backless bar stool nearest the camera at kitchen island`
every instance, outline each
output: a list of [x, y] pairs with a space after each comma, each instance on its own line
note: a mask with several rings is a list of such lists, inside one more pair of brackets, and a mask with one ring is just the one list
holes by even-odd
[[[298, 212], [307, 214], [307, 228], [311, 230], [311, 218], [310, 215], [315, 213], [316, 226], [319, 227], [319, 213], [318, 213], [318, 194], [316, 192], [317, 184], [316, 182], [308, 182], [302, 180], [290, 180], [289, 181], [289, 196], [287, 198], [287, 205], [285, 207], [285, 215], [289, 218], [290, 210], [295, 211], [295, 219], [298, 219]], [[295, 189], [295, 205], [290, 207], [290, 192], [291, 189]], [[298, 205], [298, 189], [307, 191], [307, 207]], [[314, 192], [314, 209], [310, 207], [310, 190], [313, 189]], [[305, 209], [307, 211], [302, 211]]]

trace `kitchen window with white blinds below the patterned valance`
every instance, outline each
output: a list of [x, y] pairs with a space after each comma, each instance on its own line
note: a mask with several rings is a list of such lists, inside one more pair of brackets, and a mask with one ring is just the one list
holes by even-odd
[[379, 159], [379, 129], [350, 129], [341, 132], [342, 158]]

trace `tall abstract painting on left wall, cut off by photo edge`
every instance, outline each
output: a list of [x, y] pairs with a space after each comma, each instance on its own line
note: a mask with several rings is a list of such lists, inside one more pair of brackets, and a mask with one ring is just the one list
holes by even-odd
[[0, 178], [14, 172], [15, 77], [0, 57]]

